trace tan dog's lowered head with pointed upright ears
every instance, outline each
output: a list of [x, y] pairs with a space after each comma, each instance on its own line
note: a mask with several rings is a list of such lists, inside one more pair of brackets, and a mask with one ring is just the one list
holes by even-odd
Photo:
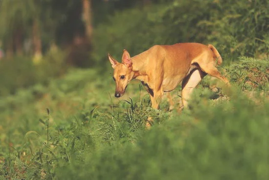
[[120, 97], [124, 94], [129, 82], [134, 77], [133, 62], [127, 50], [123, 50], [121, 63], [116, 61], [108, 54], [112, 68], [114, 69], [113, 79], [116, 82], [115, 97]]

